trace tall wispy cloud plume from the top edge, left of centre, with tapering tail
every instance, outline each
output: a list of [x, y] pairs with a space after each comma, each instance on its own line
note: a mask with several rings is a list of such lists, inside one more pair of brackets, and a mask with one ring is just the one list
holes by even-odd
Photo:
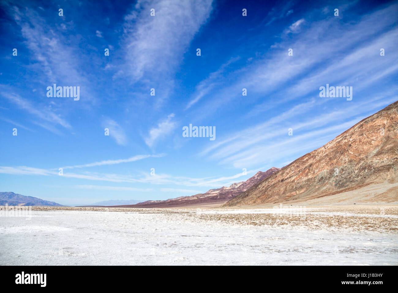
[[[150, 16], [152, 8], [155, 16]], [[124, 17], [124, 59], [115, 67], [118, 70], [113, 79], [128, 77], [127, 81], [135, 84], [137, 90], [156, 85], [152, 107], [161, 109], [176, 88], [175, 75], [184, 53], [211, 10], [212, 0], [138, 1]]]

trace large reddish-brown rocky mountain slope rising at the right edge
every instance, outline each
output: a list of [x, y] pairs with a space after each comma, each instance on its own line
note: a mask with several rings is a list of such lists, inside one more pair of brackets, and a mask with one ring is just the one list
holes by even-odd
[[369, 185], [380, 183], [390, 190], [384, 202], [397, 201], [398, 193], [394, 190], [398, 183], [398, 101], [296, 159], [224, 206], [304, 202], [365, 187], [369, 191]]

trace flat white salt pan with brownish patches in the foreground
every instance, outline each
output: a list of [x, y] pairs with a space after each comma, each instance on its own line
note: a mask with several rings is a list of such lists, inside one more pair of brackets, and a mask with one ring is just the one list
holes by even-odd
[[0, 264], [397, 265], [397, 209], [33, 207], [0, 217]]

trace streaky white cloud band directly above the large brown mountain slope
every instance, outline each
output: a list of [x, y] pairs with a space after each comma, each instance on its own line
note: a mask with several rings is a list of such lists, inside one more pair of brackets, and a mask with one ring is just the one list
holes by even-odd
[[[394, 91], [378, 93], [370, 100], [311, 116], [306, 120], [297, 120], [295, 117], [302, 117], [303, 113], [310, 112], [326, 101], [302, 103], [261, 124], [226, 135], [224, 140], [204, 149], [201, 155], [237, 168], [270, 162], [275, 153], [279, 158], [284, 155], [299, 156], [308, 151], [308, 147], [327, 143], [361, 119], [373, 114], [372, 111], [377, 112], [380, 107], [395, 102], [398, 99], [397, 94]], [[341, 123], [342, 117], [344, 120], [351, 120]], [[295, 135], [286, 139], [290, 127]]]

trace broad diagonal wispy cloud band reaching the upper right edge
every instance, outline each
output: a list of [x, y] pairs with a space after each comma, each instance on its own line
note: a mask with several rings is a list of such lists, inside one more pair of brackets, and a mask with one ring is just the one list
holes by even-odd
[[[282, 40], [267, 54], [232, 71], [228, 79], [220, 81], [217, 88], [208, 91], [206, 98], [201, 98], [201, 108], [195, 109], [200, 113], [196, 114], [197, 119], [212, 116], [225, 104], [241, 97], [242, 88], [250, 91], [247, 98], [273, 97], [272, 101], [266, 99], [264, 105], [256, 105], [258, 113], [261, 108], [269, 110], [289, 100], [307, 98], [306, 95], [326, 83], [346, 85], [360, 81], [361, 90], [369, 87], [370, 81], [380, 80], [378, 75], [385, 76], [396, 70], [398, 56], [380, 59], [378, 52], [380, 46], [393, 50], [398, 43], [396, 29], [392, 28], [397, 7], [392, 4], [355, 23], [336, 24], [334, 18], [326, 18], [309, 24], [300, 34], [282, 33]], [[339, 37], [330, 38], [330, 34]], [[363, 47], [363, 43], [367, 45]], [[293, 56], [288, 56], [288, 48], [293, 48]], [[202, 91], [206, 88], [198, 88], [193, 96]]]

